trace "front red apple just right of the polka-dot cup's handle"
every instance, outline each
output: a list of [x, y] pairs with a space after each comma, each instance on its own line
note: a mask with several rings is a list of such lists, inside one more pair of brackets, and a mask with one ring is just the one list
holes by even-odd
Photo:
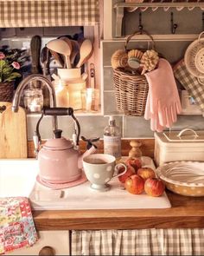
[[133, 174], [126, 179], [124, 187], [131, 194], [141, 194], [143, 193], [144, 187], [143, 178], [137, 174]]

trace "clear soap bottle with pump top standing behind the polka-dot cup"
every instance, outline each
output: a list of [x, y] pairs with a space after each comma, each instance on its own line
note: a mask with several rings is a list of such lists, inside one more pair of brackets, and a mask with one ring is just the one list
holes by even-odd
[[117, 161], [121, 158], [121, 131], [112, 115], [104, 129], [104, 153], [112, 154]]

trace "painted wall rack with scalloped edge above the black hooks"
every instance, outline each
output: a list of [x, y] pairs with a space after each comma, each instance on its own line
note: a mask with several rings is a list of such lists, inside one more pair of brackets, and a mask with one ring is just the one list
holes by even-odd
[[156, 10], [157, 8], [163, 8], [164, 10], [169, 10], [169, 8], [175, 8], [176, 10], [182, 10], [182, 8], [188, 8], [188, 10], [193, 10], [194, 8], [201, 8], [204, 10], [204, 2], [168, 2], [168, 3], [115, 3], [113, 5], [114, 10], [116, 11], [116, 30], [115, 36], [122, 36], [122, 23], [124, 18], [124, 9], [127, 10], [136, 10], [140, 9], [141, 11], [152, 9]]

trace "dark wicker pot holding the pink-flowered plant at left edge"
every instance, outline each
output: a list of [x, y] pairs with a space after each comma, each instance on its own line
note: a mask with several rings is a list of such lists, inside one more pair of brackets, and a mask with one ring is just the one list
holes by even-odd
[[12, 102], [14, 82], [0, 82], [0, 102]]

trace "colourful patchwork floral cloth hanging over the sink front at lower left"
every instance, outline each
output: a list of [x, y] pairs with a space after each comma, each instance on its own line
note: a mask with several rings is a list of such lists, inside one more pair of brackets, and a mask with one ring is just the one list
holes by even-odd
[[29, 200], [25, 197], [0, 198], [0, 254], [38, 240]]

